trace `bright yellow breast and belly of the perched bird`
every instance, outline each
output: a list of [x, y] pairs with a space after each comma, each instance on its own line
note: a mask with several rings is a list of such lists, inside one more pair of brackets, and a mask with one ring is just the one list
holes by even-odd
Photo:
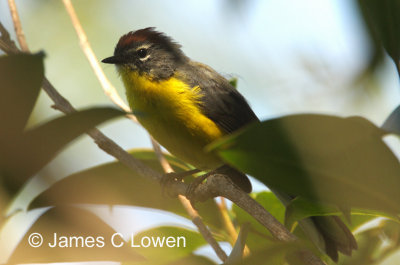
[[147, 77], [120, 69], [129, 104], [146, 130], [171, 154], [202, 170], [223, 162], [204, 147], [223, 136], [223, 131], [201, 113], [198, 87], [177, 78], [151, 82]]

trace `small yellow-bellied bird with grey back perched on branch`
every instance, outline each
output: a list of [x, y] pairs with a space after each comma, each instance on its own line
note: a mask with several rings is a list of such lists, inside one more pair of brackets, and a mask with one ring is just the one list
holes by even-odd
[[[144, 128], [171, 154], [204, 171], [229, 176], [243, 191], [252, 190], [248, 177], [224, 164], [205, 146], [259, 119], [246, 99], [211, 67], [192, 61], [181, 46], [155, 28], [123, 35], [115, 64], [132, 111]], [[287, 204], [294, 196], [275, 192]], [[312, 217], [300, 226], [333, 260], [338, 251], [350, 255], [357, 243], [337, 217]]]

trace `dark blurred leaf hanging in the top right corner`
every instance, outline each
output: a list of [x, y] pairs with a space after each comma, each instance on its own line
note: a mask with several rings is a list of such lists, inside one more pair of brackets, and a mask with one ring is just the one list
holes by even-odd
[[372, 66], [381, 59], [383, 46], [400, 73], [400, 1], [358, 0], [358, 5], [372, 39]]

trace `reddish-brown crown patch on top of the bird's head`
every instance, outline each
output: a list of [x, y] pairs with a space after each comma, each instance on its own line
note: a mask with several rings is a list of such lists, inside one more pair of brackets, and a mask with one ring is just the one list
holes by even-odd
[[154, 44], [162, 45], [167, 49], [179, 49], [180, 45], [175, 43], [170, 37], [164, 35], [161, 32], [155, 30], [154, 27], [140, 29], [137, 31], [131, 31], [123, 35], [117, 46], [115, 47], [114, 53], [119, 53], [129, 47], [132, 47], [134, 43], [150, 42]]

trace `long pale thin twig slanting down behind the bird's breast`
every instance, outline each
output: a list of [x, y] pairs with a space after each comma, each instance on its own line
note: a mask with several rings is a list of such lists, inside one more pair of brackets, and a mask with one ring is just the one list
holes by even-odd
[[[111, 82], [108, 80], [108, 78], [105, 76], [102, 68], [100, 67], [100, 64], [98, 63], [98, 59], [96, 58], [96, 55], [93, 52], [93, 49], [90, 47], [90, 43], [88, 41], [88, 38], [86, 36], [85, 31], [82, 28], [82, 25], [79, 21], [78, 16], [76, 15], [75, 9], [71, 3], [70, 0], [63, 0], [65, 9], [67, 10], [71, 20], [72, 20], [72, 25], [75, 28], [75, 31], [78, 35], [80, 45], [82, 48], [83, 53], [85, 54], [86, 58], [88, 59], [90, 65], [92, 66], [92, 69], [97, 76], [98, 80], [100, 81], [101, 86], [103, 87], [103, 90], [105, 94], [120, 108], [122, 108], [125, 112], [131, 112], [131, 109], [129, 108], [128, 105], [125, 104], [125, 102], [121, 99], [121, 97], [118, 95], [117, 90], [114, 88], [114, 86], [111, 84]], [[137, 119], [134, 115], [130, 116], [131, 119], [137, 122]], [[159, 144], [150, 136], [151, 142], [153, 145], [153, 149], [155, 153], [157, 154], [158, 160], [160, 161], [160, 164], [162, 168], [164, 169], [165, 173], [171, 173], [173, 172], [172, 167], [168, 163], [167, 159], [163, 156]], [[218, 257], [222, 260], [225, 261], [227, 258], [227, 255], [225, 252], [222, 250], [222, 248], [219, 246], [218, 242], [214, 239], [212, 236], [211, 232], [208, 230], [207, 226], [203, 223], [202, 219], [200, 218], [198, 212], [193, 209], [192, 205], [190, 204], [189, 200], [186, 199], [186, 197], [179, 195], [178, 196], [180, 202], [182, 203], [183, 207], [189, 214], [190, 218], [192, 219], [193, 223], [198, 227], [200, 233], [203, 235], [205, 240], [211, 245], [211, 247], [214, 249], [215, 253], [218, 255]]]

